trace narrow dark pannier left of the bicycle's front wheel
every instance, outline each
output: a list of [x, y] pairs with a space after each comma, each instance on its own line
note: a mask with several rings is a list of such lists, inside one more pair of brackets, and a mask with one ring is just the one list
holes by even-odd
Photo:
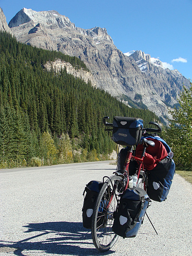
[[[86, 192], [86, 195], [84, 196], [82, 217], [83, 217], [83, 226], [86, 229], [91, 229], [94, 206], [96, 204], [96, 199], [98, 197], [98, 194], [99, 194], [102, 186], [103, 186], [102, 182], [91, 181], [86, 185], [86, 187], [84, 189], [84, 193]], [[83, 193], [83, 195], [84, 195], [84, 193]]]

